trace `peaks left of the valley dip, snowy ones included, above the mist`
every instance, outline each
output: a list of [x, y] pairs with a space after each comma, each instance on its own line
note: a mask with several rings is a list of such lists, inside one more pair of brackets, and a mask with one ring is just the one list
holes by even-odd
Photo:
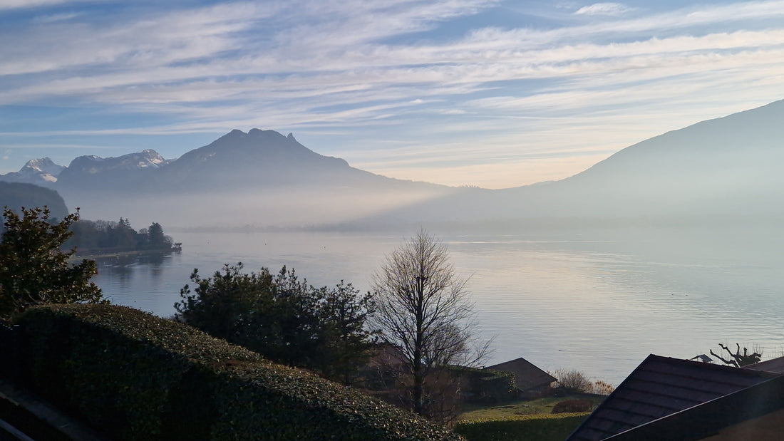
[[199, 193], [260, 186], [433, 186], [386, 178], [323, 156], [274, 130], [232, 130], [207, 146], [167, 160], [155, 150], [121, 157], [81, 156], [67, 167], [48, 157], [27, 162], [0, 180], [49, 186], [64, 193]]

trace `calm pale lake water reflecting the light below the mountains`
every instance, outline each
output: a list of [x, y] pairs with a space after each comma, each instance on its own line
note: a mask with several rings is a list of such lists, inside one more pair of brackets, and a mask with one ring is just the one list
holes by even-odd
[[[753, 230], [431, 231], [470, 276], [487, 364], [524, 357], [617, 385], [649, 353], [691, 358], [718, 343], [784, 352], [784, 233]], [[416, 233], [416, 232], [413, 232]], [[413, 234], [412, 233], [412, 234]], [[198, 268], [285, 265], [315, 286], [371, 275], [406, 236], [361, 233], [172, 233], [180, 254], [107, 259], [96, 283], [112, 302], [171, 316]]]

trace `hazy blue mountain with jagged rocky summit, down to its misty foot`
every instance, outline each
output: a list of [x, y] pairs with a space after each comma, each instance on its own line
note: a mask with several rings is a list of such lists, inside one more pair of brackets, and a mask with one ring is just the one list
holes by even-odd
[[453, 191], [365, 172], [292, 134], [258, 128], [233, 130], [176, 160], [154, 150], [78, 157], [52, 186], [85, 219], [122, 214], [180, 226], [347, 222]]

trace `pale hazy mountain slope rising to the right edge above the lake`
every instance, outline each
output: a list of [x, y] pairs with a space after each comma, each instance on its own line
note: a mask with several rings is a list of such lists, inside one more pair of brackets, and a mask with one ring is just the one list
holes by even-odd
[[784, 220], [781, 121], [784, 100], [646, 139], [567, 179], [452, 193], [363, 222], [777, 222]]

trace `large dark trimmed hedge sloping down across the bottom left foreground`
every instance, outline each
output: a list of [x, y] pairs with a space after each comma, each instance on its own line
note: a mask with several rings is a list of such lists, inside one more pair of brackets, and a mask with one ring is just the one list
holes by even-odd
[[38, 306], [19, 324], [25, 381], [116, 439], [460, 439], [136, 309]]

